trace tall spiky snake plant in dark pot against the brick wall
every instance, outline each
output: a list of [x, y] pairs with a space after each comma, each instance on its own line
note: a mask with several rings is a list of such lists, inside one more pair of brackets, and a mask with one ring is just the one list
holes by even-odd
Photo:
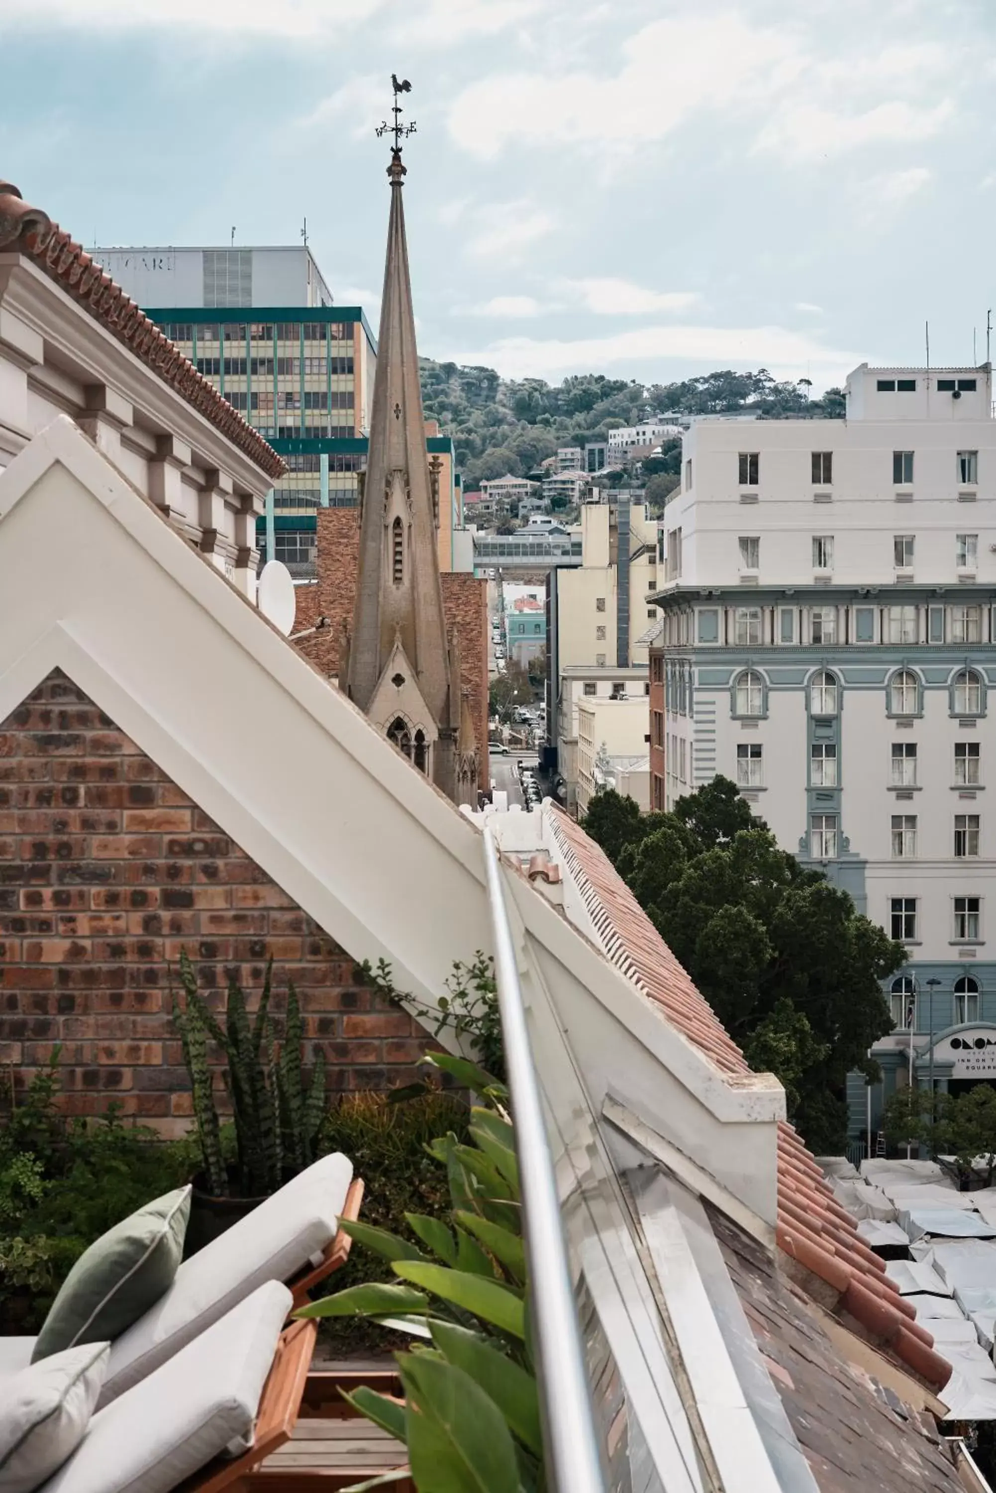
[[[173, 1023], [190, 1073], [203, 1160], [203, 1169], [193, 1178], [188, 1256], [261, 1203], [288, 1176], [311, 1166], [317, 1156], [326, 1111], [326, 1060], [318, 1050], [311, 1084], [305, 1084], [303, 1023], [297, 991], [290, 982], [284, 1041], [279, 1051], [275, 1048], [272, 973], [270, 959], [254, 1017], [249, 1017], [237, 979], [230, 979], [222, 1026], [197, 990], [190, 959], [185, 953], [179, 959], [185, 1005], [173, 997]], [[227, 1160], [222, 1147], [209, 1042], [224, 1057], [221, 1078], [234, 1123], [234, 1162]]]

